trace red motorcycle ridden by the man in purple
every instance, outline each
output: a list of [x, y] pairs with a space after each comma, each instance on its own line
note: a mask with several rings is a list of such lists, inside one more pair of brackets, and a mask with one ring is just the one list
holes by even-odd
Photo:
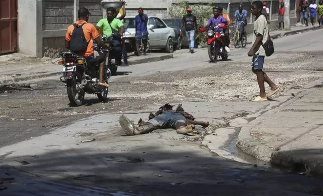
[[228, 60], [228, 52], [224, 49], [224, 43], [220, 40], [220, 33], [216, 32], [217, 28], [226, 28], [224, 23], [218, 24], [217, 26], [210, 26], [208, 29], [205, 27], [200, 28], [200, 32], [207, 30], [208, 35], [208, 53], [211, 62], [216, 62], [218, 57], [221, 57], [222, 60]]

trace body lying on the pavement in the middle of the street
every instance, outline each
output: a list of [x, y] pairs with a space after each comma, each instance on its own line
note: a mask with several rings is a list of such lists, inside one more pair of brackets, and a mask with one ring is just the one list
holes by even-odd
[[184, 111], [182, 104], [176, 110], [173, 106], [169, 103], [161, 106], [157, 112], [149, 114], [147, 122], [140, 118], [138, 127], [125, 115], [120, 116], [119, 123], [126, 135], [145, 134], [159, 128], [174, 128], [177, 133], [187, 134], [194, 131], [195, 125], [209, 126], [209, 122], [196, 121], [193, 115]]

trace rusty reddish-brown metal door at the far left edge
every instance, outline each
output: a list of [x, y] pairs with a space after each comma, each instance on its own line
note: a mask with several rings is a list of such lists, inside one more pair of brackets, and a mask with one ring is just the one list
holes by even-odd
[[17, 51], [17, 0], [0, 0], [0, 54]]

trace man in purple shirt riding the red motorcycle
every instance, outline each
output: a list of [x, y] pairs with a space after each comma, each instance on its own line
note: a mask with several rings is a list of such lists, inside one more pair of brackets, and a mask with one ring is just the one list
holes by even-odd
[[[210, 26], [214, 27], [214, 26], [217, 26], [218, 24], [221, 24], [221, 23], [224, 23], [224, 24], [228, 25], [227, 20], [223, 16], [220, 15], [220, 12], [221, 11], [219, 11], [219, 9], [217, 7], [213, 7], [214, 16], [209, 19], [209, 21], [208, 21], [207, 25], [205, 26], [205, 28], [209, 28]], [[224, 33], [225, 29], [217, 28], [217, 29], [215, 29], [215, 31], [220, 33], [220, 35], [221, 35], [220, 39], [223, 42], [223, 47], [227, 52], [229, 52], [230, 49], [227, 46], [228, 45], [227, 38], [226, 38], [226, 35]]]

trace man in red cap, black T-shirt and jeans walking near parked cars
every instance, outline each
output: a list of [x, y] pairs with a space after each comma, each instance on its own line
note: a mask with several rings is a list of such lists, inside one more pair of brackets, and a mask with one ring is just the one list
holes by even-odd
[[192, 9], [187, 8], [187, 15], [184, 15], [182, 19], [182, 25], [180, 31], [185, 25], [186, 36], [190, 39], [190, 52], [194, 53], [194, 40], [195, 40], [195, 32], [198, 31], [198, 24], [196, 21], [196, 16], [192, 14]]

